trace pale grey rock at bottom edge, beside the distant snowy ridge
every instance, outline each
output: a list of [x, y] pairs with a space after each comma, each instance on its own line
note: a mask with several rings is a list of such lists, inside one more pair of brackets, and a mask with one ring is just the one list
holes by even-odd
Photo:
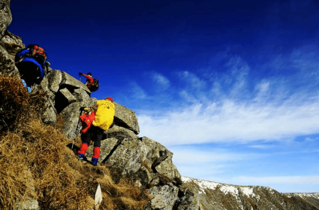
[[178, 199], [178, 187], [174, 185], [154, 186], [148, 191], [153, 196], [152, 210], [171, 210]]

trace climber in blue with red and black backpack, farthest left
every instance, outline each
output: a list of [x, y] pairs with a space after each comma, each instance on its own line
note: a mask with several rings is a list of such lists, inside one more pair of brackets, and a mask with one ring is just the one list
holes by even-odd
[[29, 44], [21, 49], [15, 56], [15, 64], [27, 87], [39, 84], [50, 66], [47, 53], [37, 44]]

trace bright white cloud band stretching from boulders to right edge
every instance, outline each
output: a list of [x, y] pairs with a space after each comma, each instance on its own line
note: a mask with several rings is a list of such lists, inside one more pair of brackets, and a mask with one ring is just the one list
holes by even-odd
[[165, 113], [160, 118], [139, 115], [141, 135], [171, 145], [282, 140], [295, 135], [319, 133], [319, 103], [297, 96], [288, 98], [281, 106], [226, 99], [214, 109], [207, 107], [213, 103], [201, 103]]

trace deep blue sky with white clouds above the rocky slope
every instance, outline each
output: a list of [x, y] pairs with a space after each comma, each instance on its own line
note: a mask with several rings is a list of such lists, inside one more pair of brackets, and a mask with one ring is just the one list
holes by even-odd
[[319, 192], [316, 1], [12, 1], [9, 31], [136, 112], [182, 176]]

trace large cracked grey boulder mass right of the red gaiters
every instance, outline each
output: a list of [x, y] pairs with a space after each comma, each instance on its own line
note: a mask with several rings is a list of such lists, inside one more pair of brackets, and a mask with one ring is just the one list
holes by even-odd
[[[92, 157], [93, 145], [86, 155], [88, 160]], [[139, 138], [134, 132], [116, 125], [105, 132], [101, 141], [102, 164], [116, 167], [122, 176], [142, 186], [179, 184], [180, 174], [172, 163], [172, 155], [160, 143], [147, 137]]]

